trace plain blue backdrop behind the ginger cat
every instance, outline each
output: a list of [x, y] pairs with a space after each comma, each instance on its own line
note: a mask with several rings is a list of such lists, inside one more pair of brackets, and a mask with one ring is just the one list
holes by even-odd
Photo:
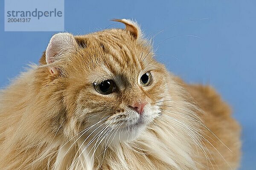
[[[5, 87], [27, 63], [38, 62], [54, 32], [4, 32], [3, 0], [0, 5], [0, 86]], [[65, 30], [87, 34], [112, 24], [112, 18], [133, 18], [147, 37], [163, 31], [154, 38], [157, 59], [186, 82], [211, 84], [222, 94], [243, 128], [241, 170], [256, 170], [255, 8], [253, 0], [66, 0]]]

